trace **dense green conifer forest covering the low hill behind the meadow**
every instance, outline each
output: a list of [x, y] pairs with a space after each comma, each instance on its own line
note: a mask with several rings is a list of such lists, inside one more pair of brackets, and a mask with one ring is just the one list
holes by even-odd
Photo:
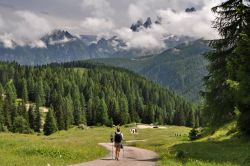
[[[201, 123], [200, 112], [175, 93], [125, 69], [87, 62], [0, 63], [0, 94], [0, 130], [12, 132], [43, 128], [49, 135], [79, 124]], [[28, 111], [27, 103], [33, 103]], [[43, 126], [41, 106], [49, 107]]]

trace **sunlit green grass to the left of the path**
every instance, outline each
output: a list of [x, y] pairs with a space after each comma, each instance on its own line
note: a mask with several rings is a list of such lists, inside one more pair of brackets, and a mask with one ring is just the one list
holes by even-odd
[[49, 137], [0, 133], [1, 166], [68, 165], [106, 155], [97, 142], [107, 142], [101, 133], [109, 128], [71, 129]]

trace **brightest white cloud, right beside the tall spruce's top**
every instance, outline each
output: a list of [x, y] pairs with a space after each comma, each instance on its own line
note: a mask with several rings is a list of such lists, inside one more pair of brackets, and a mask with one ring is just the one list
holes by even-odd
[[158, 10], [157, 13], [162, 18], [163, 28], [169, 34], [214, 39], [219, 36], [211, 25], [215, 19], [211, 11], [213, 6], [215, 3], [208, 2], [200, 10], [193, 13], [175, 12], [172, 9]]

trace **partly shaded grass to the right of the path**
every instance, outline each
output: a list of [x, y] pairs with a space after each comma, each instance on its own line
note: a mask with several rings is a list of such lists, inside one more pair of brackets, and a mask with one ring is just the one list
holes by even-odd
[[161, 157], [158, 164], [164, 166], [249, 166], [250, 141], [238, 138], [235, 126], [235, 122], [227, 124], [212, 136], [192, 142], [186, 127], [145, 129], [141, 134], [147, 141], [134, 146], [156, 151]]

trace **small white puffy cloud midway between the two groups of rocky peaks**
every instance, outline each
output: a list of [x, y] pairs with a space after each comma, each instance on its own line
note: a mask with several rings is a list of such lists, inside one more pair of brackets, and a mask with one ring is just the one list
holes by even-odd
[[115, 28], [115, 25], [109, 19], [88, 17], [82, 21], [81, 27], [88, 33], [106, 35]]

